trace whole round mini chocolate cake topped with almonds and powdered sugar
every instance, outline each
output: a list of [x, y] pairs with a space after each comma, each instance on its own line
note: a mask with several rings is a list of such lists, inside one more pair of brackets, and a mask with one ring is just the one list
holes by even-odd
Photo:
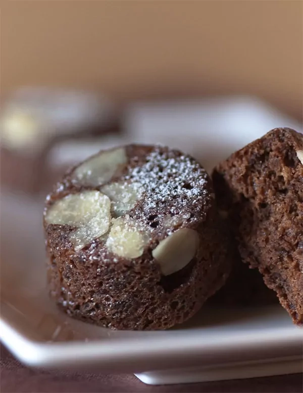
[[165, 329], [192, 316], [229, 274], [212, 182], [166, 147], [101, 151], [46, 199], [51, 296], [70, 316]]

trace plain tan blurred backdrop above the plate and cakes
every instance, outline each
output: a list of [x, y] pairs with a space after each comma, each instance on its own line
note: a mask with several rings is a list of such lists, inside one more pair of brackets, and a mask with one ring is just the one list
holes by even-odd
[[1, 95], [24, 84], [119, 101], [245, 93], [302, 120], [301, 1], [1, 3]]

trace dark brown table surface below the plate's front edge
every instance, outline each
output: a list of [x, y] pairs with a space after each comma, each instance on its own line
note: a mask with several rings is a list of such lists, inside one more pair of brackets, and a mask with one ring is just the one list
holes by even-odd
[[275, 392], [301, 393], [303, 374], [237, 379], [182, 385], [145, 385], [134, 375], [37, 370], [23, 366], [1, 347], [1, 393], [98, 393], [98, 392]]

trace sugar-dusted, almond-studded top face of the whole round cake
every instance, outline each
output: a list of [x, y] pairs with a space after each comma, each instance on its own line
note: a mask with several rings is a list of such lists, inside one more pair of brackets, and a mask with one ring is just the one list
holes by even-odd
[[[113, 234], [127, 234], [124, 242], [141, 250], [177, 229], [196, 229], [213, 198], [208, 174], [189, 155], [162, 146], [128, 145], [101, 151], [70, 170], [46, 198], [44, 225], [53, 240], [61, 239], [60, 247], [63, 234], [76, 251], [95, 243], [111, 247]], [[92, 203], [102, 206], [103, 217]], [[53, 213], [54, 206], [59, 213]], [[81, 216], [75, 217], [75, 211]], [[116, 244], [114, 253], [117, 247], [124, 246]]]

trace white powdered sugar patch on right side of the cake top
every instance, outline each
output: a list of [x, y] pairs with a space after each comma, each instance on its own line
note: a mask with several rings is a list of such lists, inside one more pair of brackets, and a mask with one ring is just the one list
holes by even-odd
[[[132, 167], [125, 179], [141, 184], [145, 191], [142, 209], [135, 212], [139, 220], [155, 215], [158, 221], [165, 218], [167, 224], [168, 217], [178, 215], [174, 221], [180, 223], [182, 218], [188, 221], [189, 211], [192, 221], [199, 220], [201, 207], [211, 198], [205, 170], [190, 156], [176, 156], [161, 147], [156, 147], [143, 165]], [[156, 227], [151, 224], [152, 231]]]

